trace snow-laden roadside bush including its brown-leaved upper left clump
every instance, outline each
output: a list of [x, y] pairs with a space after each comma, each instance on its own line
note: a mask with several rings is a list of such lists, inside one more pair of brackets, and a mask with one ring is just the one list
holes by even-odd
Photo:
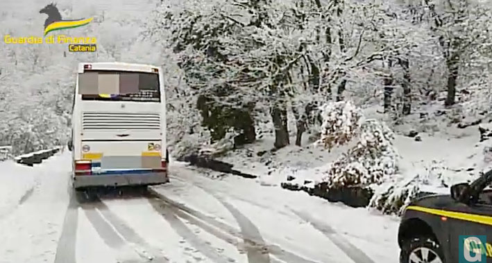
[[331, 149], [355, 141], [334, 161], [323, 182], [329, 187], [366, 187], [380, 184], [398, 172], [398, 152], [394, 134], [378, 120], [366, 120], [351, 102], [331, 102], [323, 107], [323, 125], [319, 143]]

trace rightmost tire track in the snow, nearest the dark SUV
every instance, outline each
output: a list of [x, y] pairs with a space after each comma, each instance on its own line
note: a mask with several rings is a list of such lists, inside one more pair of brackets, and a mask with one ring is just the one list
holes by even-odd
[[355, 263], [374, 263], [366, 253], [361, 251], [357, 246], [354, 246], [347, 239], [342, 237], [330, 226], [321, 223], [320, 221], [312, 218], [310, 215], [307, 215], [305, 212], [299, 212], [296, 210], [292, 210], [294, 214], [303, 219], [304, 221], [311, 224], [314, 228], [319, 230], [323, 235], [328, 237], [338, 248], [341, 249], [351, 260]]

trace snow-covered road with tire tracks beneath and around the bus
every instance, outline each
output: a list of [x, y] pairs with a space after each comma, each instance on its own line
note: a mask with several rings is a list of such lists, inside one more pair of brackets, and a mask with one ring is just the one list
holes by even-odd
[[0, 217], [0, 262], [398, 262], [396, 217], [182, 163], [148, 190], [71, 194], [69, 157], [9, 166], [33, 183]]

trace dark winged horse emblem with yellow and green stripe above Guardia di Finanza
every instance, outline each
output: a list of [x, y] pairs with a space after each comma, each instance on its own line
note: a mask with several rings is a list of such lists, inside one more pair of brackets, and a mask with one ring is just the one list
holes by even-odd
[[48, 15], [48, 18], [44, 21], [44, 36], [54, 30], [78, 28], [79, 26], [85, 26], [92, 21], [92, 17], [87, 19], [76, 20], [63, 20], [62, 15], [56, 7], [56, 3], [49, 3], [40, 10], [40, 14]]

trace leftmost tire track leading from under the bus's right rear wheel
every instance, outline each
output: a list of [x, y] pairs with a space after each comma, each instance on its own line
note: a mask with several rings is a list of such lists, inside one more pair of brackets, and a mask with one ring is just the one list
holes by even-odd
[[216, 263], [231, 263], [235, 260], [227, 260], [223, 255], [217, 253], [209, 244], [205, 243], [203, 239], [195, 235], [192, 230], [190, 230], [183, 221], [181, 221], [176, 214], [173, 213], [167, 204], [163, 203], [155, 197], [149, 197], [149, 203], [153, 208], [160, 214], [164, 219], [166, 219], [171, 227], [176, 230], [178, 235], [186, 239], [194, 248], [198, 249], [203, 255], [210, 258]]

